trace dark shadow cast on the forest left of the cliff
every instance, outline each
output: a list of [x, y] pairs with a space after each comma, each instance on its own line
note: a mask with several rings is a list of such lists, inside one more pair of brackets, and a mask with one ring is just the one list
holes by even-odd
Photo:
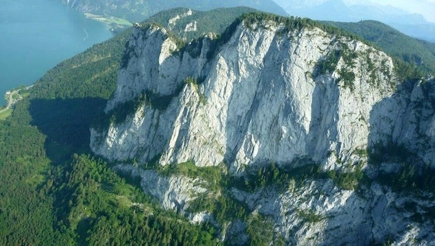
[[47, 136], [45, 149], [50, 160], [59, 164], [72, 153], [90, 151], [90, 124], [106, 102], [97, 97], [30, 100], [30, 124]]

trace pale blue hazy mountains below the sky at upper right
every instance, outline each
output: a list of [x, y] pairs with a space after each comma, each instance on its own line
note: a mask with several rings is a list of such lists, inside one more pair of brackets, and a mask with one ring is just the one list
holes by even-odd
[[392, 6], [371, 2], [345, 3], [328, 1], [276, 1], [290, 14], [323, 21], [356, 22], [376, 20], [387, 23], [409, 36], [435, 42], [435, 23], [418, 14], [411, 14]]

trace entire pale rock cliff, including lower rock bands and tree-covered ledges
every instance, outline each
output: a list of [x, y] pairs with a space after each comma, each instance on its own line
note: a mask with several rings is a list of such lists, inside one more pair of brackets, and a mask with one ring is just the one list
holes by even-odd
[[434, 179], [400, 162], [434, 167], [434, 81], [400, 84], [385, 53], [320, 27], [245, 15], [186, 46], [135, 28], [91, 149], [222, 240], [433, 243]]

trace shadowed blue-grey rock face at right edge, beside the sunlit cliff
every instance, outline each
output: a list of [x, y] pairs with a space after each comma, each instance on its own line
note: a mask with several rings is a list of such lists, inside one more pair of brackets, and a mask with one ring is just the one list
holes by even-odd
[[[369, 139], [395, 142], [435, 167], [435, 83], [406, 82], [371, 111]], [[375, 144], [376, 142], [371, 142]]]

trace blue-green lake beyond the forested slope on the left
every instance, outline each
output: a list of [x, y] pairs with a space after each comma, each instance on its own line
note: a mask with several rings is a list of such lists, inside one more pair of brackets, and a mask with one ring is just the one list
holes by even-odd
[[110, 37], [105, 23], [55, 0], [0, 0], [0, 106], [6, 91]]

